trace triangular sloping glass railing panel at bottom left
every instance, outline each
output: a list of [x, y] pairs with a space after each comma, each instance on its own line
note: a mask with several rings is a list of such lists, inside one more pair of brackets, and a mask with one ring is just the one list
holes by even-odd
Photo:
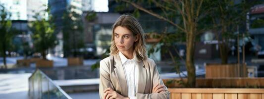
[[30, 99], [71, 99], [59, 86], [37, 69], [29, 77]]

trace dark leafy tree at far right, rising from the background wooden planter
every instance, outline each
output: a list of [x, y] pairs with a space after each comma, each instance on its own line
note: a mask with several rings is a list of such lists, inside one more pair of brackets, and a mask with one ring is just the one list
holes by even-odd
[[237, 26], [244, 27], [246, 31], [246, 16], [250, 12], [255, 0], [242, 0], [240, 3], [234, 3], [234, 0], [214, 0], [211, 1], [211, 10], [214, 10], [207, 17], [211, 22], [211, 30], [216, 33], [216, 39], [220, 49], [221, 63], [228, 63], [228, 52], [232, 47], [231, 39], [236, 39], [235, 32]]

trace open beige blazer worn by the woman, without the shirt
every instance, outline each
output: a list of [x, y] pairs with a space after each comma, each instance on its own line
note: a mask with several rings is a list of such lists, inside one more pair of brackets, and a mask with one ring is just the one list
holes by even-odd
[[[147, 58], [139, 63], [139, 80], [137, 99], [169, 99], [170, 93], [166, 91], [160, 93], [152, 93], [152, 88], [159, 83], [164, 85], [158, 74], [158, 69], [154, 60]], [[112, 88], [114, 91], [124, 97], [128, 97], [127, 82], [125, 78], [124, 68], [118, 54], [106, 57], [100, 61], [100, 98], [104, 98], [104, 90]]]

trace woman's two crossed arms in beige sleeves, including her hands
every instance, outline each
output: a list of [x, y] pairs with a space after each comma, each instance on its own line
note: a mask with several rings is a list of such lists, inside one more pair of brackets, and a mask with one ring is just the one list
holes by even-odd
[[[155, 84], [152, 88], [152, 93], [150, 94], [141, 94], [136, 93], [138, 99], [169, 99], [169, 92], [167, 88], [164, 86], [160, 76], [158, 74], [158, 70], [155, 65], [154, 70], [154, 79], [153, 84]], [[109, 67], [106, 62], [100, 62], [100, 98], [101, 99], [129, 99], [128, 97], [124, 97], [114, 91], [113, 84], [110, 80]]]

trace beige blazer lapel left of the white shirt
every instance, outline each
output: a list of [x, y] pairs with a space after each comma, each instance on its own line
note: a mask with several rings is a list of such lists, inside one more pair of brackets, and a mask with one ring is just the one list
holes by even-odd
[[125, 77], [125, 72], [124, 72], [124, 68], [123, 68], [123, 65], [121, 63], [121, 59], [120, 59], [120, 56], [118, 54], [115, 54], [113, 55], [113, 60], [114, 60], [114, 72], [115, 72], [115, 76], [118, 80], [118, 83], [119, 83], [119, 86], [121, 88], [121, 94], [124, 96], [124, 97], [127, 97], [128, 96], [128, 93], [127, 93], [127, 82], [126, 82], [126, 77]]

